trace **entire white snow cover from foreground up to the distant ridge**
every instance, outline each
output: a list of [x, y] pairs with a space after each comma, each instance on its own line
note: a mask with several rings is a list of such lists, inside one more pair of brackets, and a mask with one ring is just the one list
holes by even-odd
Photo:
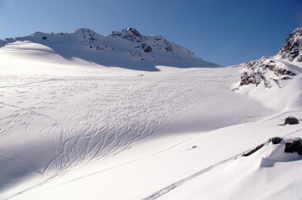
[[0, 199], [302, 198], [297, 60], [220, 67], [133, 28], [0, 40], [0, 60]]

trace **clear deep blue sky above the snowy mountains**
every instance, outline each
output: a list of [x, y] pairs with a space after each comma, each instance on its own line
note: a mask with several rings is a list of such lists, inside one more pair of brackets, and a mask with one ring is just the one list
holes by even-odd
[[302, 27], [302, 0], [0, 0], [0, 38], [134, 27], [228, 66], [274, 55]]

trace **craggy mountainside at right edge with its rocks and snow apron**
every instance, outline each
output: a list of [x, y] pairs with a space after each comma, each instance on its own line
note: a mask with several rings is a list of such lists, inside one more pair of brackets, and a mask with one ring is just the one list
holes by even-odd
[[273, 110], [298, 109], [302, 104], [301, 58], [302, 28], [297, 28], [277, 55], [249, 62], [235, 87]]

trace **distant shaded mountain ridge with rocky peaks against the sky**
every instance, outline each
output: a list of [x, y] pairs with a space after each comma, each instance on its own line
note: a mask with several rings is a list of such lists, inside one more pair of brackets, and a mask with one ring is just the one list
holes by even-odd
[[[40, 44], [39, 47], [37, 44]], [[108, 36], [99, 35], [86, 28], [77, 29], [72, 33], [36, 32], [21, 38], [0, 40], [0, 47], [3, 47], [0, 51], [14, 51], [17, 57], [28, 57], [28, 54], [31, 54], [30, 58], [34, 60], [81, 60], [81, 63], [87, 61], [103, 66], [147, 71], [156, 71], [156, 65], [182, 68], [220, 67], [218, 64], [201, 60], [192, 51], [162, 36], [143, 36], [135, 28], [113, 31]]]

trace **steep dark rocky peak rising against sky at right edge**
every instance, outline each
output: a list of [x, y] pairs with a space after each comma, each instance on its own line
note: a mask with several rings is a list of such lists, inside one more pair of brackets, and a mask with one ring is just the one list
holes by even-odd
[[280, 49], [278, 55], [282, 59], [288, 59], [293, 61], [297, 58], [297, 62], [302, 61], [302, 28], [295, 29], [291, 34], [286, 38], [285, 45]]

